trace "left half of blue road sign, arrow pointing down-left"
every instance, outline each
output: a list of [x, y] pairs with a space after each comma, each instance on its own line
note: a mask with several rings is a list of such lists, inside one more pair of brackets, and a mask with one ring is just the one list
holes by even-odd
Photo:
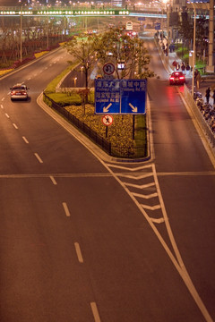
[[96, 114], [120, 113], [120, 80], [95, 80]]

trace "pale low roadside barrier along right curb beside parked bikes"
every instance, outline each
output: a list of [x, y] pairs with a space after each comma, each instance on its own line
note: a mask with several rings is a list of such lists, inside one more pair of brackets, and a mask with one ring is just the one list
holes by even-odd
[[189, 104], [189, 107], [191, 108], [191, 110], [192, 110], [197, 122], [201, 126], [201, 128], [204, 131], [205, 135], [210, 140], [212, 148], [214, 148], [215, 147], [214, 133], [211, 131], [211, 128], [210, 128], [209, 124], [204, 119], [202, 113], [200, 112], [198, 106], [196, 105], [196, 103], [195, 103], [195, 101], [194, 101], [194, 99], [192, 97], [192, 94], [191, 94], [190, 90], [187, 88], [186, 85], [184, 85], [184, 97], [185, 97], [186, 102]]

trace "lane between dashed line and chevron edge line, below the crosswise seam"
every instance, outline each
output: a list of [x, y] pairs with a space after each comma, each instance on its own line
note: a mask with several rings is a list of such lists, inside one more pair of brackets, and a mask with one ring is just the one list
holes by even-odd
[[[125, 191], [112, 178], [87, 180], [90, 190], [86, 178], [66, 179], [66, 194], [101, 320], [203, 321], [176, 268]], [[58, 178], [57, 183], [62, 191], [64, 180]]]

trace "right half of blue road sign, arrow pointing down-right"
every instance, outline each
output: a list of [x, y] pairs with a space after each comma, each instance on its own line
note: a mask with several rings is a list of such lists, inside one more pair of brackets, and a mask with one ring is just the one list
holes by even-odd
[[121, 114], [145, 114], [146, 80], [121, 80]]

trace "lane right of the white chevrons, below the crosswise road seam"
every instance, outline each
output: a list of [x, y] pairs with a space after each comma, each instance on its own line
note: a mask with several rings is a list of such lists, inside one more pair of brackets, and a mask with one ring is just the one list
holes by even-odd
[[215, 174], [202, 171], [158, 175], [169, 223], [185, 267], [215, 319]]

